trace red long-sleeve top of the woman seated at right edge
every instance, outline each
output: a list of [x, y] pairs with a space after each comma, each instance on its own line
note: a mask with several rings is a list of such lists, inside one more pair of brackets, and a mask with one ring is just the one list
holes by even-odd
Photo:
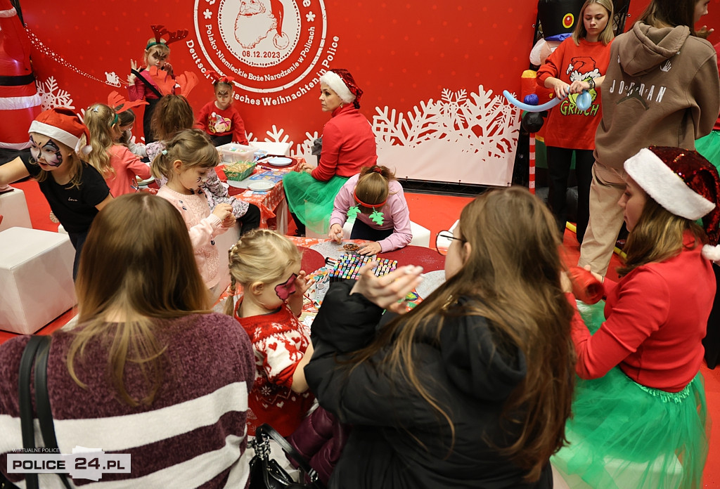
[[[685, 234], [685, 244], [693, 237]], [[605, 280], [606, 321], [595, 334], [575, 314], [577, 375], [600, 378], [620, 365], [636, 383], [678, 392], [693, 380], [715, 296], [711, 263], [701, 245], [642, 265], [617, 284]]]

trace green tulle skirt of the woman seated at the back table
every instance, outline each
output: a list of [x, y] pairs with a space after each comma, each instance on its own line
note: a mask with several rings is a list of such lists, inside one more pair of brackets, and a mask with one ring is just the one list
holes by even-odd
[[328, 234], [335, 197], [346, 181], [348, 177], [338, 175], [321, 182], [310, 173], [287, 173], [282, 178], [287, 206], [305, 227], [318, 234]]

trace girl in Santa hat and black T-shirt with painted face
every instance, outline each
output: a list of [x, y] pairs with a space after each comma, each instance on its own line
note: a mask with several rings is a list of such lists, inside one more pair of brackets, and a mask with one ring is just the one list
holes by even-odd
[[0, 166], [0, 187], [32, 176], [48, 199], [50, 209], [75, 247], [73, 278], [93, 219], [112, 200], [102, 175], [78, 154], [86, 155], [86, 127], [70, 109], [42, 112], [30, 124], [30, 158]]

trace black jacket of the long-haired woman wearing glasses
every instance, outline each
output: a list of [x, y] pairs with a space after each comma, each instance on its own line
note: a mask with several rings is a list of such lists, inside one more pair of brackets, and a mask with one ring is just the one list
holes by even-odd
[[390, 378], [379, 362], [385, 352], [354, 370], [343, 363], [343, 354], [372, 340], [382, 315], [363, 296], [348, 296], [352, 285], [330, 287], [305, 367], [320, 405], [353, 425], [330, 488], [552, 488], [549, 464], [538, 483], [523, 484], [523, 471], [485, 441], [513, 441], [500, 429], [500, 412], [526, 375], [522, 353], [500, 355], [480, 316], [446, 319], [439, 345], [429, 333], [415, 343], [418, 375], [454, 422], [450, 451], [449, 424], [401, 375]]

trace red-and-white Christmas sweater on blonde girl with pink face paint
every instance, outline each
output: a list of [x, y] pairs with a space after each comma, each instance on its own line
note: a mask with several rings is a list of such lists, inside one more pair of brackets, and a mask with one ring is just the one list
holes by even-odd
[[296, 393], [290, 388], [297, 364], [310, 344], [310, 328], [297, 320], [287, 306], [271, 314], [238, 317], [255, 352], [255, 383], [248, 396], [248, 437], [267, 423], [283, 437], [292, 434], [312, 407], [310, 390]]

